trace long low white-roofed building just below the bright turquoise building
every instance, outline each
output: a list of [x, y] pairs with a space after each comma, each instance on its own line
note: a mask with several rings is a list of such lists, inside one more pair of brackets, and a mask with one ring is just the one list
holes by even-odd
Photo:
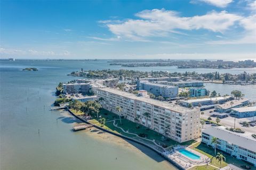
[[182, 106], [188, 107], [189, 103], [192, 104], [193, 107], [198, 106], [200, 103], [202, 106], [204, 105], [210, 105], [210, 104], [222, 104], [228, 100], [230, 100], [230, 96], [225, 97], [217, 97], [217, 98], [203, 98], [203, 99], [191, 99], [191, 100], [181, 100]]

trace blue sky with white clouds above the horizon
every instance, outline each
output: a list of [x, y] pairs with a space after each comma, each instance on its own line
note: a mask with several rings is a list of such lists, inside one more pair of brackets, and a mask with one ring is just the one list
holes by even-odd
[[256, 59], [255, 0], [0, 1], [0, 58]]

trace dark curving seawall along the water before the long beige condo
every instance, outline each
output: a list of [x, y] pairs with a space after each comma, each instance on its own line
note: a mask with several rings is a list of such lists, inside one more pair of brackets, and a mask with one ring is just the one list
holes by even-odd
[[[67, 109], [67, 111], [74, 117], [76, 117], [77, 119], [81, 120], [82, 122], [86, 123], [86, 124], [91, 124], [90, 122], [87, 122], [86, 120], [76, 116], [71, 110]], [[122, 134], [117, 134], [117, 133], [114, 133], [114, 132], [111, 132], [111, 131], [108, 131], [107, 129], [105, 128], [102, 128], [100, 126], [97, 126], [97, 125], [93, 125], [94, 128], [97, 128], [97, 129], [100, 129], [101, 131], [104, 131], [104, 132], [107, 132], [111, 135], [115, 135], [117, 137], [121, 137], [122, 139], [124, 140], [129, 140], [129, 141], [132, 141], [132, 142], [135, 142], [137, 144], [140, 144], [140, 145], [143, 145], [144, 147], [154, 151], [155, 153], [157, 153], [159, 156], [161, 156], [162, 158], [164, 158], [167, 162], [169, 162], [172, 166], [174, 166], [175, 168], [177, 169], [180, 169], [180, 170], [185, 170], [185, 168], [181, 167], [179, 164], [175, 163], [175, 161], [171, 160], [170, 158], [166, 157], [162, 152], [158, 151], [157, 149], [151, 147], [150, 145], [146, 144], [146, 143], [143, 143], [141, 141], [138, 141], [138, 140], [135, 140], [135, 139], [132, 139], [131, 137], [128, 137], [128, 136], [124, 136]]]

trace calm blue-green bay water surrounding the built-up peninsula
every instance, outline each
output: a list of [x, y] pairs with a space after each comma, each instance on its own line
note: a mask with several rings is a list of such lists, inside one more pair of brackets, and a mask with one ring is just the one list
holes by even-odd
[[[154, 152], [137, 144], [131, 143], [142, 152], [134, 152], [122, 144], [106, 143], [86, 132], [71, 132], [70, 129], [77, 120], [67, 117], [66, 112], [49, 111], [56, 98], [55, 86], [59, 82], [74, 79], [67, 74], [81, 68], [108, 69], [110, 66], [106, 61], [0, 62], [0, 169], [175, 169], [164, 164], [162, 159], [153, 159], [157, 157]], [[21, 71], [26, 67], [36, 67], [39, 71]], [[119, 68], [124, 69], [120, 66], [111, 67]], [[152, 68], [135, 69], [150, 71]], [[186, 71], [174, 67], [153, 69]], [[238, 74], [244, 70], [229, 71]], [[250, 71], [256, 72], [255, 69]], [[218, 88], [217, 92], [222, 93], [221, 85], [206, 87], [209, 90]], [[227, 91], [230, 90], [230, 87], [226, 88]], [[255, 90], [253, 94], [252, 88], [255, 89], [241, 86], [244, 94], [251, 94], [253, 97]], [[223, 93], [226, 94], [227, 91], [224, 90]], [[115, 160], [116, 157], [118, 161]]]

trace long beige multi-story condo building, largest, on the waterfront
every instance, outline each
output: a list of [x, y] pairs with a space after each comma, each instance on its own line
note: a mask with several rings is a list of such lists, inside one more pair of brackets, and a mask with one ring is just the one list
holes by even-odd
[[[98, 99], [103, 99], [99, 102], [104, 109], [120, 114], [132, 122], [139, 118], [139, 124], [170, 139], [185, 142], [200, 135], [199, 109], [189, 109], [114, 88], [97, 88], [96, 93]], [[117, 106], [121, 107], [121, 112], [116, 111]]]

